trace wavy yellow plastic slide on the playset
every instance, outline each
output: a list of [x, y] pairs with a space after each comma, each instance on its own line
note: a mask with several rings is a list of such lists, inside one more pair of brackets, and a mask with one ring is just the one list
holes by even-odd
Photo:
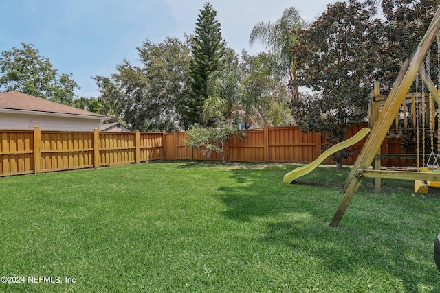
[[340, 150], [347, 148], [350, 145], [354, 145], [358, 141], [361, 141], [364, 137], [366, 137], [366, 134], [369, 134], [369, 132], [370, 128], [362, 128], [353, 137], [350, 137], [346, 141], [342, 141], [337, 145], [333, 145], [331, 148], [320, 154], [320, 156], [318, 156], [315, 161], [309, 163], [308, 165], [295, 168], [292, 170], [292, 172], [285, 174], [283, 182], [292, 183], [292, 181], [296, 178], [304, 176], [305, 174], [309, 174], [314, 169], [316, 169], [316, 167], [318, 167], [325, 159], [327, 159], [328, 156], [331, 156], [335, 152], [339, 152]]

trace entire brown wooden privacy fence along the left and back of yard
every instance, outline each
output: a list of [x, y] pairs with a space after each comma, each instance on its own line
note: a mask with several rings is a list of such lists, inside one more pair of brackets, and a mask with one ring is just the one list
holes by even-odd
[[[351, 137], [364, 126], [351, 126]], [[246, 130], [243, 140], [236, 137], [227, 143], [227, 161], [310, 163], [321, 154], [325, 138], [316, 132], [307, 134], [298, 127], [265, 127]], [[212, 160], [185, 145], [185, 132], [64, 132], [40, 130], [0, 130], [0, 176], [39, 174], [68, 169], [85, 169], [140, 163], [154, 160]], [[357, 159], [365, 139], [351, 147], [353, 156], [344, 164]], [[406, 154], [400, 139], [386, 139], [382, 154]], [[333, 163], [331, 158], [325, 163]], [[383, 165], [414, 165], [415, 160], [382, 159]]]

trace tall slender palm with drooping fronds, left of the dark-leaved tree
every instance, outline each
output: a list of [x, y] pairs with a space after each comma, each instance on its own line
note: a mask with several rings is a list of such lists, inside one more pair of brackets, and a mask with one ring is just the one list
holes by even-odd
[[[298, 43], [292, 30], [301, 30], [307, 24], [301, 18], [296, 8], [286, 8], [275, 23], [264, 23], [263, 21], [254, 25], [249, 38], [252, 46], [256, 41], [265, 45], [268, 54], [262, 54], [263, 60], [268, 67], [272, 68], [272, 74], [276, 78], [288, 79], [287, 87], [292, 91], [292, 102], [298, 100], [298, 85], [296, 84], [296, 61], [291, 49]], [[293, 116], [292, 116], [293, 117]], [[296, 125], [293, 117], [294, 125]]]

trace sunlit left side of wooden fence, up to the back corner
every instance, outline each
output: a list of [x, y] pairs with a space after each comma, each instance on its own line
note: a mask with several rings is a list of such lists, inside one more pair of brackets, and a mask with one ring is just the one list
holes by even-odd
[[0, 176], [164, 159], [162, 132], [0, 130]]

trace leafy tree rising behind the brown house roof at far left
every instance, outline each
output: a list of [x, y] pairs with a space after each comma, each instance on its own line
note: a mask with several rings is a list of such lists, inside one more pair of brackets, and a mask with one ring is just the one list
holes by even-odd
[[33, 44], [21, 45], [23, 49], [12, 47], [12, 51], [1, 52], [0, 89], [72, 105], [74, 89], [79, 89], [72, 73], [59, 75], [50, 60], [40, 56]]

